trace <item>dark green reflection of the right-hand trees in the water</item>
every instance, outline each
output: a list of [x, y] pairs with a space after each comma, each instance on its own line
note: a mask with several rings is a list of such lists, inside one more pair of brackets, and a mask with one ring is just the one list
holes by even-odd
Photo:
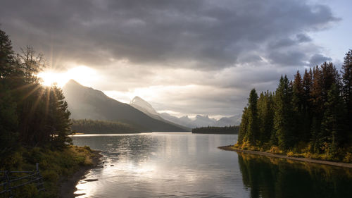
[[239, 153], [239, 168], [251, 197], [351, 197], [352, 171]]

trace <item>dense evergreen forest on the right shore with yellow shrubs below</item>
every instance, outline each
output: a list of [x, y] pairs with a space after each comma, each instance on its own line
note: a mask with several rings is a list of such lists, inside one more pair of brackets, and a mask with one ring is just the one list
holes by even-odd
[[252, 89], [235, 147], [352, 162], [352, 50], [333, 63], [286, 75], [275, 92]]

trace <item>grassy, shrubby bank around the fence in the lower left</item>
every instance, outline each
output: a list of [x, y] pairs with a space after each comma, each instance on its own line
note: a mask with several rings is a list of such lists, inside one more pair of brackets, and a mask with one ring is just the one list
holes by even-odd
[[35, 164], [39, 163], [46, 191], [38, 192], [34, 185], [26, 185], [16, 190], [15, 197], [58, 197], [59, 182], [70, 178], [81, 166], [92, 165], [93, 157], [89, 147], [70, 145], [60, 150], [21, 147], [0, 163], [0, 170], [34, 171]]

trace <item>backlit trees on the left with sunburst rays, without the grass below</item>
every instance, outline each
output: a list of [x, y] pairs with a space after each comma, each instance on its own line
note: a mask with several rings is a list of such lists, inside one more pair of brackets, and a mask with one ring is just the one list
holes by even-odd
[[63, 92], [41, 85], [38, 73], [46, 67], [32, 47], [15, 53], [0, 30], [0, 161], [19, 147], [63, 148], [70, 142], [70, 112]]

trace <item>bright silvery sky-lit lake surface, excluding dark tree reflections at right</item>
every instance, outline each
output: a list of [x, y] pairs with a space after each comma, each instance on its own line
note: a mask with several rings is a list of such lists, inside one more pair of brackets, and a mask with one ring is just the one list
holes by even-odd
[[[104, 168], [77, 185], [80, 197], [248, 197], [242, 190], [237, 156], [218, 146], [236, 135], [144, 134], [74, 137], [103, 153]], [[113, 166], [111, 166], [113, 165]], [[238, 166], [238, 165], [237, 165]], [[240, 190], [234, 188], [238, 178]]]

